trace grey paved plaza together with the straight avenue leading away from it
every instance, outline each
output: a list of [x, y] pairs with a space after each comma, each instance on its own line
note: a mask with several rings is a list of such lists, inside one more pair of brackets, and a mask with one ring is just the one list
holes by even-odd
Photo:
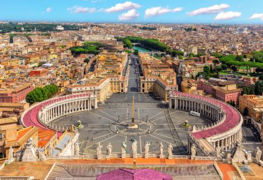
[[[134, 63], [135, 62], [135, 63]], [[158, 100], [152, 93], [138, 93], [138, 61], [134, 58], [129, 69], [127, 93], [114, 93], [98, 109], [82, 111], [67, 115], [53, 123], [57, 125], [76, 125], [78, 120], [84, 127], [79, 129], [80, 154], [96, 154], [96, 145], [102, 145], [102, 153], [106, 153], [108, 143], [113, 146], [112, 153], [121, 153], [122, 143], [127, 143], [127, 153], [131, 154], [131, 143], [138, 142], [137, 152], [145, 152], [144, 146], [150, 143], [149, 152], [158, 153], [163, 143], [164, 154], [171, 143], [173, 154], [187, 154], [188, 129], [181, 127], [187, 119], [191, 125], [201, 127], [211, 124], [210, 120], [191, 116], [186, 111], [167, 109], [167, 103]], [[138, 129], [127, 129], [131, 122], [131, 102], [134, 96], [135, 119]]]

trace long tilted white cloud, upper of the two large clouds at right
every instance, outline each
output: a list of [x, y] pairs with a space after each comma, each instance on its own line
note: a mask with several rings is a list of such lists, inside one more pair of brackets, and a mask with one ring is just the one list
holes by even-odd
[[194, 10], [192, 12], [188, 12], [187, 14], [190, 16], [196, 16], [196, 15], [209, 15], [209, 14], [215, 14], [218, 12], [221, 12], [223, 10], [226, 10], [230, 6], [226, 3], [216, 4], [214, 6], [206, 7], [206, 8], [200, 8], [198, 10]]

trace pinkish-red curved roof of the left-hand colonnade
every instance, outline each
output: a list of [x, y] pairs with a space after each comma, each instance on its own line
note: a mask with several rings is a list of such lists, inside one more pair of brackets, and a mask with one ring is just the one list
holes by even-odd
[[[39, 120], [37, 118], [39, 111], [43, 107], [45, 107], [47, 105], [57, 104], [57, 102], [61, 102], [64, 100], [68, 100], [68, 99], [72, 99], [72, 98], [81, 98], [81, 97], [85, 97], [85, 96], [90, 97], [91, 93], [76, 93], [76, 94], [72, 94], [69, 96], [61, 96], [61, 97], [52, 98], [50, 100], [46, 100], [44, 102], [39, 102], [37, 105], [30, 107], [28, 109], [28, 111], [25, 111], [24, 116], [22, 116], [21, 120], [26, 127], [35, 126], [35, 127], [40, 127], [42, 129], [50, 129], [48, 127], [45, 127], [41, 123], [39, 123]], [[53, 130], [53, 129], [51, 129], [51, 130], [55, 132], [55, 130]], [[57, 138], [62, 136], [62, 134], [63, 134], [63, 132], [57, 132]]]

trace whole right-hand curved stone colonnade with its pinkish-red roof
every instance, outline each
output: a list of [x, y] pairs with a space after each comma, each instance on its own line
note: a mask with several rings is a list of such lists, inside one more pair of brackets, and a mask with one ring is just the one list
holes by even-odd
[[[206, 139], [212, 147], [228, 151], [242, 140], [243, 118], [239, 111], [225, 102], [179, 91], [170, 91], [169, 107], [183, 111], [195, 111], [210, 118], [214, 123], [208, 127], [194, 127], [190, 133], [192, 141]], [[191, 145], [188, 144], [188, 148]]]

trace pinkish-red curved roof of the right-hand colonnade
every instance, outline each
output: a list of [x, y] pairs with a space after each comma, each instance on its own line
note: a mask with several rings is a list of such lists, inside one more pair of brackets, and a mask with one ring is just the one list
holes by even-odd
[[206, 98], [203, 96], [197, 96], [194, 94], [190, 93], [181, 93], [179, 91], [171, 91], [170, 96], [184, 96], [188, 98], [192, 98], [193, 100], [202, 100], [206, 101], [210, 104], [217, 105], [221, 107], [221, 109], [226, 113], [226, 119], [224, 120], [223, 123], [220, 125], [217, 125], [215, 127], [212, 127], [210, 129], [206, 129], [200, 132], [194, 132], [192, 135], [194, 138], [209, 138], [210, 136], [215, 136], [217, 134], [222, 134], [224, 132], [227, 132], [230, 129], [233, 129], [236, 127], [239, 123], [240, 116], [237, 110], [235, 110], [233, 107], [230, 105], [227, 105], [225, 102], [222, 102], [220, 100], [216, 100], [214, 98]]

